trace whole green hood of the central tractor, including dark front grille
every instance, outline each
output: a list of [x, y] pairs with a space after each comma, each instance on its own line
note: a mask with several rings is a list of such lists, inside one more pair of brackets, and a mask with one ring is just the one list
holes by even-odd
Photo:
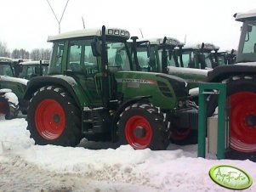
[[118, 71], [114, 75], [117, 93], [124, 99], [151, 96], [152, 104], [162, 109], [174, 109], [188, 96], [187, 83], [177, 76], [143, 71]]

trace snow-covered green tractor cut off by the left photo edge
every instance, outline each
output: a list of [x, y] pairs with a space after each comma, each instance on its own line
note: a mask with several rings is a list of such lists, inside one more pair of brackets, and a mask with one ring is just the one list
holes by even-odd
[[23, 96], [27, 80], [14, 77], [13, 60], [0, 58], [0, 113], [13, 119], [18, 110], [26, 110]]

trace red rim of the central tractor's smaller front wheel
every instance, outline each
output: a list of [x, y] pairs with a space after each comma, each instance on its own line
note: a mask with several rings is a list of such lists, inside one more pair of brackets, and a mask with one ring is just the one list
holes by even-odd
[[[137, 127], [143, 128], [145, 132], [143, 137], [138, 138], [134, 134]], [[151, 124], [143, 116], [132, 116], [126, 123], [125, 136], [128, 144], [130, 144], [135, 150], [143, 150], [151, 144]]]

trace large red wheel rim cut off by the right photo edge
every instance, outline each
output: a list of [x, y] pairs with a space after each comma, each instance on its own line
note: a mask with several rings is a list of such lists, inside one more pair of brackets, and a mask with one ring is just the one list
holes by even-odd
[[232, 94], [230, 104], [230, 147], [241, 152], [256, 151], [256, 93]]

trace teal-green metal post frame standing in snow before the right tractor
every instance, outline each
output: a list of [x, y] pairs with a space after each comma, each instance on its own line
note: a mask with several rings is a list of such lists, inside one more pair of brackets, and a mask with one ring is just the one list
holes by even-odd
[[207, 132], [208, 118], [206, 116], [207, 102], [209, 94], [218, 94], [218, 143], [217, 158], [225, 158], [225, 103], [226, 85], [225, 83], [199, 83], [199, 116], [198, 116], [198, 150], [197, 156], [205, 158], [205, 138]]

